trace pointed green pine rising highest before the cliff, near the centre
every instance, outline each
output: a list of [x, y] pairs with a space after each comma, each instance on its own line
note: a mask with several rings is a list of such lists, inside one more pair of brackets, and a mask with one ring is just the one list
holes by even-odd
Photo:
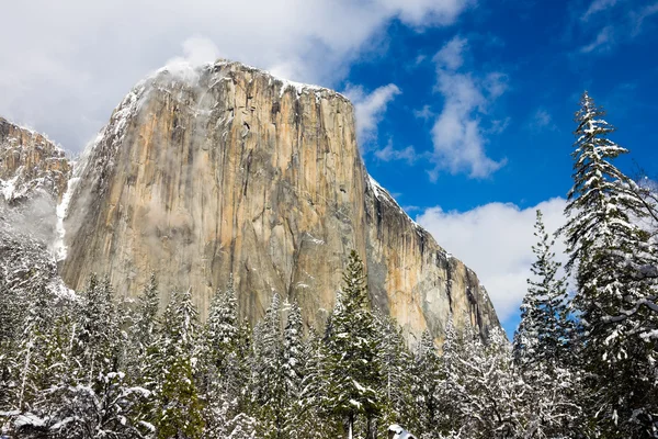
[[[328, 403], [344, 419], [348, 437], [363, 415], [370, 425], [381, 410], [377, 387], [382, 380], [377, 334], [370, 309], [363, 262], [352, 250], [343, 273], [342, 293], [331, 315], [328, 340]], [[373, 432], [368, 428], [366, 436]]]

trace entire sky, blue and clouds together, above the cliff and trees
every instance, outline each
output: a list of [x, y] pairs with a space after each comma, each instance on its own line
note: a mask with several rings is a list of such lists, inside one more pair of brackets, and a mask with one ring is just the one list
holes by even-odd
[[0, 115], [73, 153], [174, 58], [344, 92], [368, 171], [476, 270], [508, 333], [535, 209], [561, 224], [585, 89], [632, 151], [620, 167], [658, 176], [656, 0], [38, 0], [3, 14]]

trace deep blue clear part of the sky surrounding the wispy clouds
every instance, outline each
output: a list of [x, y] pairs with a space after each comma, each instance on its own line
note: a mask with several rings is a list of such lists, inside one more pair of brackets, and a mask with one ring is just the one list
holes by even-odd
[[[580, 2], [580, 7], [553, 1], [551, 8], [542, 7], [546, 2], [518, 3], [483, 4], [465, 12], [454, 26], [422, 33], [394, 22], [385, 56], [352, 67], [348, 82], [371, 90], [395, 83], [401, 90], [386, 108], [377, 139], [365, 145], [365, 158], [371, 172], [401, 194], [404, 205], [439, 203], [463, 211], [509, 201], [524, 207], [564, 195], [570, 187], [572, 114], [586, 89], [609, 110], [609, 122], [620, 128], [615, 139], [632, 149], [635, 160], [655, 168], [651, 161], [658, 156], [647, 135], [658, 112], [658, 57], [653, 55], [658, 43], [658, 3], [653, 9], [639, 1], [599, 0]], [[588, 14], [595, 4], [602, 9]], [[634, 14], [643, 9], [657, 13], [639, 23]], [[626, 19], [619, 20], [620, 15]], [[602, 34], [605, 41], [592, 45]], [[434, 119], [418, 117], [417, 112], [424, 106], [440, 114], [446, 104], [444, 93], [436, 90], [434, 57], [454, 38], [464, 42], [464, 64], [457, 74], [473, 78], [476, 88], [487, 75], [501, 75], [501, 94], [487, 99], [480, 87], [486, 108], [474, 109], [467, 116], [478, 122], [485, 156], [506, 164], [476, 178], [470, 178], [468, 165], [444, 169], [436, 181], [440, 190], [433, 194], [409, 191], [409, 185], [430, 188], [424, 173], [433, 150]], [[377, 156], [376, 149], [388, 142], [398, 150], [412, 146], [417, 160], [400, 166], [409, 162], [409, 154], [400, 160], [395, 155]], [[632, 160], [621, 161], [633, 172]], [[532, 181], [531, 188], [524, 181]]]

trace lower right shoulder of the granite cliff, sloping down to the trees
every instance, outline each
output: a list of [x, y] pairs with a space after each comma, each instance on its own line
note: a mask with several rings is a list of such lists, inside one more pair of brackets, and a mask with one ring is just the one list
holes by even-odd
[[441, 248], [368, 177], [365, 192], [368, 288], [375, 305], [416, 337], [426, 328], [444, 335], [452, 315], [457, 328], [499, 326], [475, 272]]

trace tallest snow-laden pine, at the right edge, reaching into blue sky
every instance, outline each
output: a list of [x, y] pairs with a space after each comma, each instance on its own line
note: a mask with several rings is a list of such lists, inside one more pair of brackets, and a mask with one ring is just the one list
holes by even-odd
[[658, 340], [656, 286], [642, 269], [656, 266], [646, 215], [634, 183], [612, 160], [627, 150], [609, 138], [614, 128], [585, 92], [576, 113], [574, 187], [565, 214], [574, 306], [583, 326], [581, 360], [594, 376], [586, 406], [606, 435], [656, 435]]

